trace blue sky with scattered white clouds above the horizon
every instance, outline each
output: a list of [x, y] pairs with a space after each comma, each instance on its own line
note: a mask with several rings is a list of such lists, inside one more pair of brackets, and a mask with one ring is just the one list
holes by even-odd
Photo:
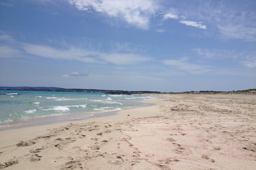
[[256, 1], [1, 0], [0, 86], [256, 88]]

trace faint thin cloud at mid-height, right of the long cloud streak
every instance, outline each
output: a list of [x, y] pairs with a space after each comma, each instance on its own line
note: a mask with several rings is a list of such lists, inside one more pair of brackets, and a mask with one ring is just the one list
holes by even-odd
[[162, 62], [166, 65], [173, 66], [178, 70], [185, 70], [193, 74], [202, 74], [211, 71], [208, 66], [189, 64], [185, 62], [186, 60], [186, 58], [182, 58], [181, 60], [164, 60]]

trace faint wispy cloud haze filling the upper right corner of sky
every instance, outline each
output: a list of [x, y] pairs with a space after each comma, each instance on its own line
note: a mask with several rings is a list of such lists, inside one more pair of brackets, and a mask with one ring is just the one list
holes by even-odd
[[227, 1], [198, 1], [183, 3], [175, 10], [191, 21], [203, 21], [217, 28], [219, 38], [256, 41], [256, 12], [253, 6], [255, 4], [249, 1], [234, 1], [233, 4]]

